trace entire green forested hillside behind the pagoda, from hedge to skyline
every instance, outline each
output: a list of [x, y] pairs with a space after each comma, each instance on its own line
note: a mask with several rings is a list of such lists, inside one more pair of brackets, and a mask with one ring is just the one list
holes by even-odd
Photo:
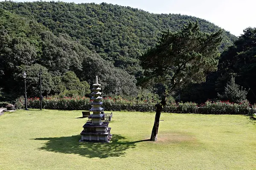
[[[107, 95], [136, 95], [140, 56], [163, 31], [178, 31], [189, 21], [207, 33], [220, 29], [196, 17], [107, 3], [0, 2], [0, 100], [23, 94], [23, 71], [28, 96], [38, 96], [39, 70], [44, 96], [87, 95], [95, 75]], [[222, 36], [220, 52], [237, 40], [227, 31]]]

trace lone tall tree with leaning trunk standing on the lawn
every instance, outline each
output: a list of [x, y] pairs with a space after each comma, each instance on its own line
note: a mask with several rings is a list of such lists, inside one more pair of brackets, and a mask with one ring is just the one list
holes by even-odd
[[140, 57], [145, 69], [140, 83], [156, 82], [166, 87], [161, 102], [156, 105], [151, 141], [157, 141], [166, 96], [180, 85], [205, 81], [207, 73], [217, 68], [221, 33], [222, 30], [203, 33], [198, 23], [189, 23], [180, 31], [164, 32], [159, 43]]

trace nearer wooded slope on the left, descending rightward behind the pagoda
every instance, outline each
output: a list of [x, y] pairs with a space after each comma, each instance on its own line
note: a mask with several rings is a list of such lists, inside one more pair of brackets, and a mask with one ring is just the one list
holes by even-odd
[[0, 89], [4, 98], [15, 99], [23, 94], [24, 71], [28, 75], [28, 96], [38, 96], [40, 69], [44, 95], [75, 88], [79, 95], [87, 95], [87, 82], [92, 84], [96, 74], [102, 78], [108, 94], [137, 92], [134, 76], [115, 68], [79, 41], [67, 34], [54, 35], [35, 20], [0, 9]]

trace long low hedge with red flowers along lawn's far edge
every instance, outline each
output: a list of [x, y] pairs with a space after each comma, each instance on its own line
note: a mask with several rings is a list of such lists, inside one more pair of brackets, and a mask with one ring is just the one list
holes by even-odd
[[[42, 102], [42, 107], [45, 109], [59, 109], [59, 110], [89, 110], [91, 108], [90, 99], [85, 97], [70, 98], [65, 97], [61, 99], [46, 98]], [[102, 100], [102, 107], [106, 111], [140, 111], [140, 112], [154, 112], [155, 103], [153, 102], [131, 102], [124, 99], [115, 100], [111, 98], [104, 98]], [[39, 98], [30, 98], [27, 100], [28, 108], [40, 108]], [[16, 100], [17, 108], [24, 108], [24, 99], [21, 97]], [[168, 113], [202, 113], [202, 114], [253, 114], [256, 113], [256, 105], [250, 105], [249, 102], [244, 101], [239, 104], [230, 103], [228, 101], [212, 102], [207, 101], [204, 104], [198, 105], [193, 102], [186, 103], [169, 103], [163, 112]]]

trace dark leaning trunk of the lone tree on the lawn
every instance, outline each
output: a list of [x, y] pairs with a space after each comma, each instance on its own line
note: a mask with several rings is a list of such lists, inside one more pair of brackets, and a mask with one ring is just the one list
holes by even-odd
[[157, 141], [157, 133], [158, 133], [158, 127], [159, 127], [159, 122], [160, 122], [160, 116], [161, 112], [163, 111], [163, 107], [166, 105], [166, 98], [164, 97], [162, 101], [158, 104], [155, 105], [156, 107], [156, 116], [155, 116], [155, 121], [154, 121], [154, 126], [152, 129], [151, 133], [151, 141]]

